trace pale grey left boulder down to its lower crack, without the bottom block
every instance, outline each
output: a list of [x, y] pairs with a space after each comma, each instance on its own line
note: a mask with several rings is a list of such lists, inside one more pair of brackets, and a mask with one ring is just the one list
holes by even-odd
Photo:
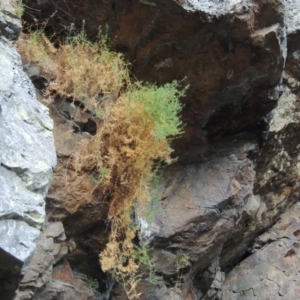
[[37, 102], [16, 50], [0, 43], [1, 219], [24, 219], [39, 228], [56, 154], [48, 110]]

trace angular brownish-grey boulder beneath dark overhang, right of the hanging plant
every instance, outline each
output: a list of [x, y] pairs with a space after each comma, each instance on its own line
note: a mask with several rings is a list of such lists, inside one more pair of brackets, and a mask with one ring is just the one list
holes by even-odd
[[[164, 253], [176, 256], [183, 251], [191, 260], [191, 268], [183, 274], [188, 271], [188, 281], [198, 286], [196, 292], [197, 288], [189, 283], [189, 289], [198, 297], [203, 296], [214, 281], [218, 270], [218, 261], [214, 260], [232, 231], [238, 228], [242, 214], [255, 217], [259, 209], [259, 204], [251, 198], [255, 172], [245, 157], [247, 149], [243, 147], [231, 157], [199, 166], [171, 167], [165, 178], [163, 201], [154, 208], [155, 217], [148, 228], [143, 220], [141, 238], [156, 249], [154, 257], [158, 258], [158, 264], [161, 262], [157, 271], [166, 278], [176, 276], [175, 259], [172, 270]], [[165, 259], [160, 260], [160, 257]]]

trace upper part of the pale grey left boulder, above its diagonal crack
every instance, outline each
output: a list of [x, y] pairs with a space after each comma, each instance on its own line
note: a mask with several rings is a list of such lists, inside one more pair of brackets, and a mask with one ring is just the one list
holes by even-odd
[[34, 87], [23, 72], [17, 51], [0, 44], [1, 166], [18, 174], [26, 189], [45, 195], [56, 164], [53, 123], [48, 109], [36, 100]]

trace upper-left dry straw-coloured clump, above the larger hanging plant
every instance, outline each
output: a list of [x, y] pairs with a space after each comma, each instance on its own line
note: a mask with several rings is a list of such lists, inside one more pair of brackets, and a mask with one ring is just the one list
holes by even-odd
[[101, 35], [92, 43], [82, 30], [56, 48], [39, 30], [22, 34], [17, 47], [25, 62], [39, 64], [50, 80], [49, 90], [74, 97], [93, 111], [101, 99], [116, 99], [124, 83], [129, 82], [122, 56], [109, 51]]

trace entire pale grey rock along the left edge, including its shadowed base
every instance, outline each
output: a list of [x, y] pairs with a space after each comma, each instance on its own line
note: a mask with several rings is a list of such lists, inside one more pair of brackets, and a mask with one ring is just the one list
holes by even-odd
[[6, 300], [36, 247], [56, 154], [48, 109], [36, 100], [8, 40], [19, 35], [20, 21], [9, 1], [0, 5], [0, 295]]

